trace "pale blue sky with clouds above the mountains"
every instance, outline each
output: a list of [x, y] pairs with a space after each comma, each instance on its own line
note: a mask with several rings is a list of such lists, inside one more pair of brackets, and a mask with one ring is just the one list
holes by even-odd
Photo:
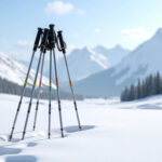
[[0, 0], [0, 52], [28, 59], [37, 28], [55, 24], [75, 48], [135, 49], [162, 27], [162, 0]]

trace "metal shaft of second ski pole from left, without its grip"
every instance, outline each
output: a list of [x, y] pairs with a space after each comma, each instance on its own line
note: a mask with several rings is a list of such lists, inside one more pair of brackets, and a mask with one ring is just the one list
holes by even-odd
[[33, 85], [32, 85], [32, 90], [31, 90], [30, 103], [29, 103], [28, 110], [27, 110], [27, 117], [26, 117], [26, 121], [25, 121], [25, 125], [24, 125], [22, 139], [24, 139], [25, 134], [26, 134], [26, 129], [27, 129], [27, 123], [28, 123], [30, 110], [31, 110], [32, 98], [33, 98], [35, 87], [36, 87], [36, 84], [37, 84], [37, 77], [38, 77], [38, 72], [39, 72], [41, 58], [42, 58], [42, 52], [40, 53], [40, 57], [39, 57], [39, 62], [38, 62], [38, 66], [37, 66], [36, 77], [35, 77], [35, 81], [33, 81]]

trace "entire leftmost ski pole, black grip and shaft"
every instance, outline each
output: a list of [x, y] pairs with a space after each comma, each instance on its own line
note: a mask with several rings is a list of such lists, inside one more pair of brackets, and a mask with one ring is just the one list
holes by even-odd
[[26, 75], [26, 79], [25, 79], [25, 82], [24, 82], [23, 92], [22, 92], [21, 99], [19, 99], [19, 103], [18, 103], [18, 106], [17, 106], [17, 110], [16, 110], [16, 114], [15, 114], [15, 118], [14, 118], [12, 131], [11, 131], [11, 134], [10, 134], [10, 137], [9, 137], [9, 141], [11, 141], [13, 133], [14, 133], [15, 124], [16, 124], [17, 117], [18, 117], [18, 113], [19, 113], [19, 110], [21, 110], [21, 106], [22, 106], [24, 94], [25, 94], [26, 85], [27, 85], [27, 82], [28, 82], [28, 77], [29, 77], [29, 73], [30, 73], [33, 56], [35, 56], [35, 53], [36, 53], [37, 48], [39, 45], [39, 41], [40, 41], [41, 35], [42, 35], [42, 29], [38, 28], [38, 32], [37, 32], [35, 44], [33, 44], [33, 50], [32, 50], [33, 52], [32, 52], [31, 59], [30, 59], [30, 63], [29, 63], [28, 71], [27, 71], [27, 75]]

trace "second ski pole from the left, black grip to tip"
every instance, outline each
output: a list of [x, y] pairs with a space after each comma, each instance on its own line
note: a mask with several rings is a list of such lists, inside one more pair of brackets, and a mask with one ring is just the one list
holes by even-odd
[[26, 134], [26, 129], [27, 129], [27, 123], [28, 123], [30, 110], [31, 110], [32, 98], [33, 98], [35, 87], [37, 84], [37, 77], [38, 77], [39, 67], [40, 67], [40, 63], [41, 63], [41, 58], [42, 58], [42, 53], [45, 54], [45, 52], [46, 52], [45, 45], [46, 45], [46, 40], [48, 40], [48, 32], [49, 32], [49, 29], [44, 29], [44, 33], [43, 33], [43, 38], [42, 38], [42, 42], [41, 42], [40, 57], [39, 57], [37, 71], [36, 71], [36, 76], [35, 76], [35, 81], [33, 81], [33, 85], [32, 85], [32, 90], [31, 90], [31, 96], [30, 96], [30, 102], [29, 102], [29, 106], [28, 106], [28, 110], [27, 110], [27, 116], [26, 116], [26, 121], [25, 121], [25, 125], [24, 125], [22, 139], [24, 139], [25, 134]]

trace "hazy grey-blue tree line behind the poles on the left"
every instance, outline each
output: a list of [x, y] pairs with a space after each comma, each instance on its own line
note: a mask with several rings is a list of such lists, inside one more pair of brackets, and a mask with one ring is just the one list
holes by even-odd
[[[0, 77], [0, 93], [22, 95], [22, 92], [23, 92], [23, 86], [22, 85], [18, 85], [16, 83], [13, 83], [13, 82], [11, 82], [6, 79], [2, 79]], [[30, 94], [31, 94], [31, 87], [26, 87], [24, 96], [30, 97]], [[36, 89], [33, 97], [37, 98], [37, 96], [38, 96], [38, 89]], [[41, 87], [40, 98], [43, 98], [43, 99], [49, 98], [49, 87], [48, 86], [46, 87], [45, 86]], [[53, 89], [52, 99], [56, 99], [56, 98], [57, 98], [56, 90]], [[60, 90], [60, 98], [62, 99], [72, 99], [72, 96], [71, 96], [71, 94]], [[83, 96], [76, 95], [76, 98], [77, 99], [83, 99]]]

